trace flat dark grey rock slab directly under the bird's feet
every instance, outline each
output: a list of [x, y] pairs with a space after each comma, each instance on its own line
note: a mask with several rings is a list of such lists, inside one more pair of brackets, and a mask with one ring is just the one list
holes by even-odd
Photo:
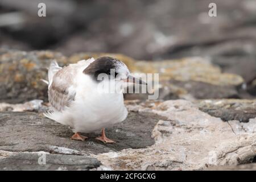
[[124, 122], [106, 129], [106, 135], [116, 143], [104, 144], [94, 139], [100, 135], [100, 131], [86, 134], [89, 139], [81, 142], [70, 139], [72, 129], [42, 114], [0, 112], [0, 150], [89, 155], [124, 148], [144, 148], [154, 144], [150, 136], [159, 119], [163, 117], [154, 113], [131, 112]]

